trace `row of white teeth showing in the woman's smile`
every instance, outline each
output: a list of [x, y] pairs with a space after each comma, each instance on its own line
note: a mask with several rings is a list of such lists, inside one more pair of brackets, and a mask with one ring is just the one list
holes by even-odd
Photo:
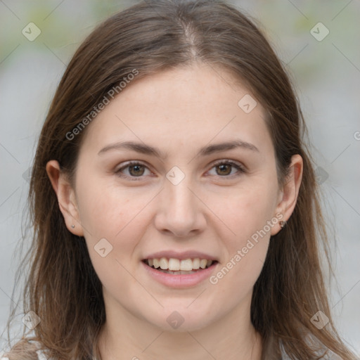
[[161, 257], [160, 259], [147, 259], [146, 262], [149, 266], [153, 266], [155, 269], [160, 267], [161, 270], [166, 270], [163, 272], [167, 272], [169, 274], [172, 274], [174, 271], [176, 274], [183, 274], [183, 271], [185, 271], [184, 274], [192, 274], [195, 272], [193, 270], [198, 270], [200, 268], [205, 269], [212, 264], [212, 260], [199, 259], [198, 257], [195, 259], [182, 260], [174, 259], [172, 257], [169, 259]]

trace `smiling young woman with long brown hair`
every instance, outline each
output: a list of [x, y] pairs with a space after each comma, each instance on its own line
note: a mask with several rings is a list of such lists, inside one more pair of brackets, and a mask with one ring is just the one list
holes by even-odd
[[34, 334], [8, 358], [355, 359], [331, 321], [305, 129], [236, 8], [146, 1], [106, 20], [41, 131]]

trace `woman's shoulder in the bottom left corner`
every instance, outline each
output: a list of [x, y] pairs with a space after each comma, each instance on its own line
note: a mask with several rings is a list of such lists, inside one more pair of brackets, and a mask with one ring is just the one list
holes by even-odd
[[51, 360], [36, 340], [23, 339], [17, 342], [9, 352], [0, 352], [0, 360]]

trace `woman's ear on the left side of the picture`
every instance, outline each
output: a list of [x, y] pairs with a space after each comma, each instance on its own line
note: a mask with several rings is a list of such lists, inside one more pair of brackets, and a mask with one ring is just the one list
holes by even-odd
[[[68, 177], [61, 172], [60, 165], [56, 160], [51, 160], [46, 164], [46, 172], [58, 197], [58, 205], [63, 214], [66, 227], [71, 233], [84, 236], [75, 191], [70, 185]], [[72, 226], [75, 227], [72, 228]]]

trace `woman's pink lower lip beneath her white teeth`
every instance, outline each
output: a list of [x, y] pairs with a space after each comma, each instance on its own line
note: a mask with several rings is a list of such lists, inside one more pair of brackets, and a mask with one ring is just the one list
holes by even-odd
[[215, 264], [212, 264], [212, 266], [209, 266], [207, 269], [202, 269], [188, 275], [166, 274], [162, 271], [153, 269], [144, 262], [141, 262], [141, 264], [145, 267], [146, 271], [148, 271], [148, 274], [150, 276], [152, 276], [159, 283], [168, 286], [169, 288], [191, 288], [191, 286], [198, 285], [198, 283], [201, 283], [206, 278], [209, 278], [215, 267], [219, 263], [217, 262]]

